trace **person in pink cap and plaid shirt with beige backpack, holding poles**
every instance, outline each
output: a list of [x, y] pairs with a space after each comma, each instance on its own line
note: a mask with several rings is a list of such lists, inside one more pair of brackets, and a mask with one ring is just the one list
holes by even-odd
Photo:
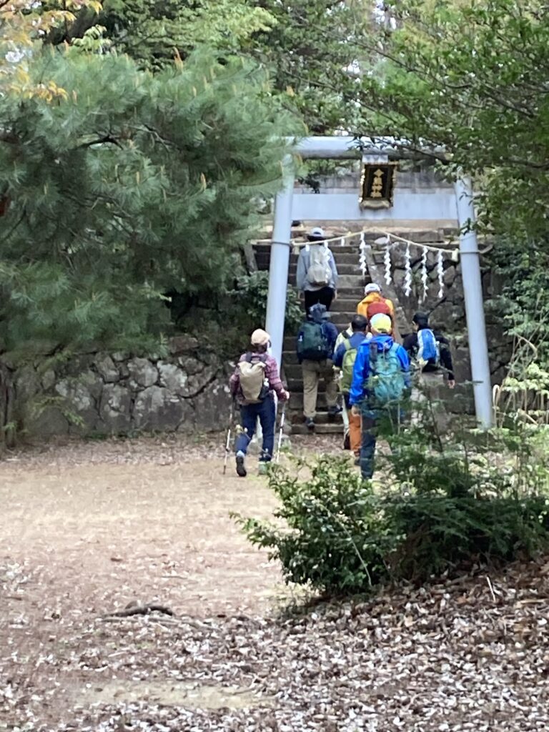
[[263, 446], [259, 458], [260, 473], [264, 472], [266, 463], [272, 459], [275, 447], [275, 397], [285, 402], [290, 398], [278, 375], [277, 362], [269, 356], [271, 337], [269, 333], [258, 329], [252, 333], [250, 350], [240, 356], [229, 386], [231, 394], [236, 397], [240, 406], [242, 432], [236, 438], [236, 473], [246, 477], [244, 458], [248, 445], [255, 433], [255, 425], [259, 418], [263, 432]]

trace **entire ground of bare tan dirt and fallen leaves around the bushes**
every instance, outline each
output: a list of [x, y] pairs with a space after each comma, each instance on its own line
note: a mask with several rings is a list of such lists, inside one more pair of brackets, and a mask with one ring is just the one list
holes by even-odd
[[[274, 501], [223, 479], [221, 453], [173, 438], [0, 463], [1, 732], [549, 728], [549, 562], [269, 618], [288, 590], [228, 513]], [[176, 617], [102, 617], [135, 600]]]

